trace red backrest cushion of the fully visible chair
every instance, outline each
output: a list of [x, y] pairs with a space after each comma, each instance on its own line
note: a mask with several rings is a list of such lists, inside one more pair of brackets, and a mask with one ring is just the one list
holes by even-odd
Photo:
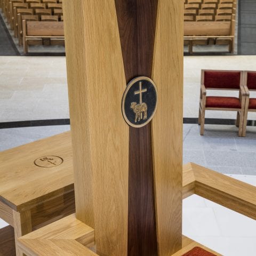
[[241, 73], [229, 71], [204, 71], [205, 88], [239, 89]]

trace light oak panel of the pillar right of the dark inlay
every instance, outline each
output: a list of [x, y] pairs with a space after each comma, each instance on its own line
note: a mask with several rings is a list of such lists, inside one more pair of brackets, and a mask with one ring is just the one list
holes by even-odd
[[159, 0], [153, 61], [158, 107], [152, 120], [158, 254], [181, 249], [183, 2]]

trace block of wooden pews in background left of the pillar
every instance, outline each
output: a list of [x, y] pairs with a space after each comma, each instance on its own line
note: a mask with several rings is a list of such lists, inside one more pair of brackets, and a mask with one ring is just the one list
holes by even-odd
[[[62, 0], [0, 0], [0, 2], [2, 12], [14, 32], [14, 37], [18, 38], [20, 46], [23, 44], [25, 54], [28, 51], [27, 44], [49, 44], [49, 42], [64, 44]], [[26, 21], [24, 25], [22, 25], [22, 21]], [[41, 21], [53, 23], [45, 25]], [[27, 22], [36, 22], [30, 23], [30, 25], [36, 26], [36, 29], [41, 28], [44, 34], [25, 34], [24, 31], [28, 31]], [[55, 35], [56, 27], [59, 31]], [[26, 36], [37, 37], [28, 39]], [[45, 40], [46, 38], [49, 40]]]

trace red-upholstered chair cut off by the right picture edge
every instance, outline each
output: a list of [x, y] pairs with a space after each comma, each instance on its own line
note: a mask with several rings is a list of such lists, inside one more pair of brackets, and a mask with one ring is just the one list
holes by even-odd
[[250, 91], [256, 91], [256, 71], [244, 71], [243, 84], [246, 92], [243, 124], [243, 137], [245, 137], [248, 112], [256, 112], [256, 99], [250, 98]]

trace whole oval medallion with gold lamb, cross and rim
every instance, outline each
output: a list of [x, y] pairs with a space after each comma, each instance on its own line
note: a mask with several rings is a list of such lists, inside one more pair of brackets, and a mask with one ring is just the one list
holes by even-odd
[[148, 77], [132, 79], [126, 87], [122, 100], [122, 112], [125, 122], [133, 127], [148, 124], [156, 112], [157, 89]]

